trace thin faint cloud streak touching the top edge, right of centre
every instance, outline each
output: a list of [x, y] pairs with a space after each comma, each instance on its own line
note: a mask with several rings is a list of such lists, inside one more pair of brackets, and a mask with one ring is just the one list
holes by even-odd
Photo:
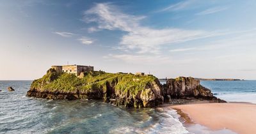
[[188, 6], [191, 5], [192, 3], [194, 3], [194, 0], [181, 1], [181, 2], [176, 3], [176, 4], [171, 4], [171, 5], [167, 6], [166, 8], [163, 8], [163, 9], [159, 10], [158, 12], [184, 10], [184, 9], [188, 8]]

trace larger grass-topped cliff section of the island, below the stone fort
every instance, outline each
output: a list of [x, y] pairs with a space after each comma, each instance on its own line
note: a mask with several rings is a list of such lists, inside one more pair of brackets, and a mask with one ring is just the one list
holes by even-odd
[[77, 78], [68, 73], [47, 71], [34, 80], [27, 96], [53, 100], [99, 99], [125, 107], [156, 107], [163, 103], [163, 87], [153, 76], [92, 71]]

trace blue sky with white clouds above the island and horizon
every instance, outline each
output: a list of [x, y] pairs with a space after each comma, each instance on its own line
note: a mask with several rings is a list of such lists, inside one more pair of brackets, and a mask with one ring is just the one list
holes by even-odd
[[51, 65], [256, 79], [256, 1], [2, 0], [0, 80]]

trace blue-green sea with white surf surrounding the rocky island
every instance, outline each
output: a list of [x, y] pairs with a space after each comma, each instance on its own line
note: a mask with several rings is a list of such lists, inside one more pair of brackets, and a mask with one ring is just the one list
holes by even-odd
[[[31, 80], [0, 81], [0, 133], [234, 133], [185, 125], [168, 107], [125, 108], [95, 100], [26, 96]], [[256, 103], [256, 81], [202, 81], [218, 98]], [[15, 91], [9, 92], [12, 86]]]

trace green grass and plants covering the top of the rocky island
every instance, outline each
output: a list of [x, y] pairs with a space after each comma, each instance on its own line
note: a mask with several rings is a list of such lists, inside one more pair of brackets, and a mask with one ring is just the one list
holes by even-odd
[[108, 85], [132, 94], [145, 89], [145, 86], [156, 80], [154, 76], [138, 76], [131, 73], [106, 73], [104, 71], [90, 71], [78, 78], [70, 73], [57, 73], [50, 69], [44, 77], [34, 80], [31, 89], [51, 93], [88, 93], [93, 91], [106, 91]]

